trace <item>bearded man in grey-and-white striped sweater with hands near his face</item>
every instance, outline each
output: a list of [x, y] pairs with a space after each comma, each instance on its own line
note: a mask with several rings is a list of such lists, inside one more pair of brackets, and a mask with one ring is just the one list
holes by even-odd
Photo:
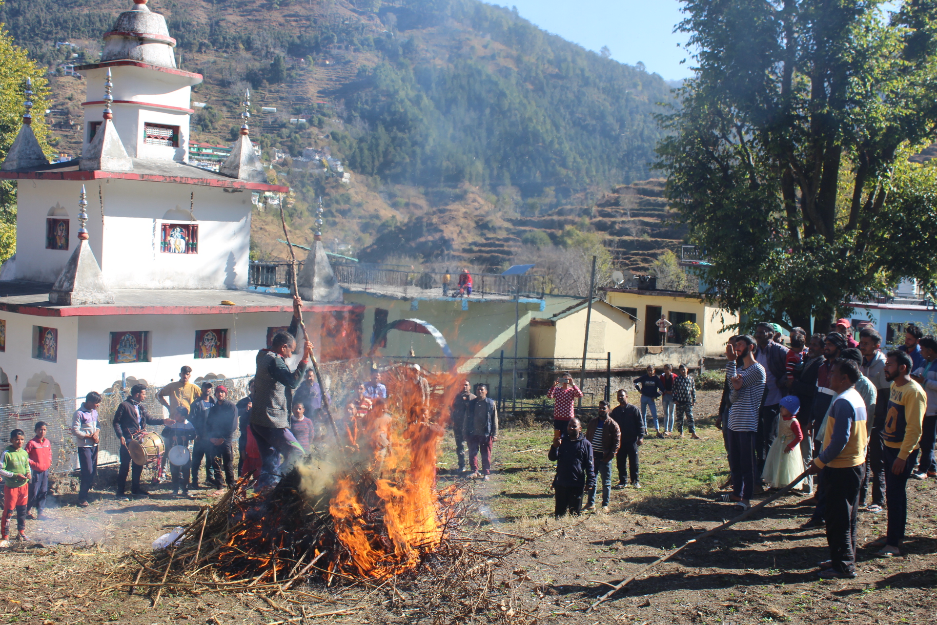
[[[725, 347], [728, 359], [725, 377], [732, 386], [732, 406], [729, 408], [727, 424], [732, 495], [727, 499], [735, 501], [742, 508], [749, 507], [749, 500], [755, 489], [758, 414], [765, 394], [765, 367], [755, 361], [754, 350], [755, 339], [750, 335], [736, 336], [735, 344], [729, 343]], [[736, 367], [736, 358], [742, 359], [740, 368]]]

